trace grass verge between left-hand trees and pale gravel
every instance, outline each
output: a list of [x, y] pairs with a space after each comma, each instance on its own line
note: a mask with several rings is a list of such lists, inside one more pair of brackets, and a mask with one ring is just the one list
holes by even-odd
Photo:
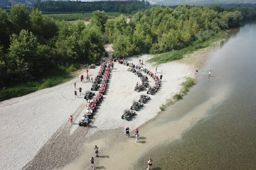
[[47, 74], [40, 76], [41, 79], [27, 83], [20, 83], [13, 87], [3, 88], [0, 90], [0, 101], [13, 97], [24, 96], [43, 88], [49, 88], [67, 82], [74, 77], [72, 76], [72, 73], [77, 69], [79, 69], [79, 66], [72, 65], [48, 70]]

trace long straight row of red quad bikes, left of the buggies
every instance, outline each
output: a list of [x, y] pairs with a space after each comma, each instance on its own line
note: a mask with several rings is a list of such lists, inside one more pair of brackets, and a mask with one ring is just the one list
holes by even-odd
[[[104, 78], [102, 79], [102, 75], [104, 75]], [[92, 119], [93, 113], [95, 113], [96, 107], [100, 104], [100, 102], [103, 100], [103, 95], [106, 92], [107, 83], [110, 76], [110, 67], [106, 67], [106, 63], [103, 63], [101, 66], [101, 69], [97, 76], [94, 79], [94, 82], [91, 87], [91, 91], [86, 91], [84, 99], [90, 100], [95, 93], [92, 91], [98, 91], [99, 93], [92, 99], [90, 102], [88, 109], [85, 111], [85, 115], [82, 116], [82, 119], [79, 121], [79, 126], [86, 126], [86, 116], [88, 116], [89, 119]]]

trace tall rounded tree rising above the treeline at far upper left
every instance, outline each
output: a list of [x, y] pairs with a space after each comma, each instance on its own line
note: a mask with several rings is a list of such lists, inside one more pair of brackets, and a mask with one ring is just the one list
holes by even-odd
[[18, 34], [22, 29], [30, 30], [29, 12], [24, 4], [11, 6], [10, 20], [14, 25], [15, 34]]

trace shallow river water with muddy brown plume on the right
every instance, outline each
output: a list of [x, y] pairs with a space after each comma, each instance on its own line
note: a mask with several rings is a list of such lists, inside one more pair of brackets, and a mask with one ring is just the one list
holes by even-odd
[[[229, 34], [211, 52], [184, 99], [140, 129], [141, 143], [135, 144], [134, 137], [111, 143], [115, 134], [94, 142], [111, 147], [101, 155], [98, 169], [146, 169], [149, 156], [154, 170], [255, 169], [256, 23]], [[81, 167], [86, 155], [66, 168]]]

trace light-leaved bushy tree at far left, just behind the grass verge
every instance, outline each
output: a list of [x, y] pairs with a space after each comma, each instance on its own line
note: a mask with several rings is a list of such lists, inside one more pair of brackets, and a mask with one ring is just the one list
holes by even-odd
[[37, 55], [37, 37], [32, 32], [21, 30], [19, 36], [12, 34], [9, 48], [9, 60], [21, 80], [27, 81], [33, 78], [38, 72], [43, 71]]

